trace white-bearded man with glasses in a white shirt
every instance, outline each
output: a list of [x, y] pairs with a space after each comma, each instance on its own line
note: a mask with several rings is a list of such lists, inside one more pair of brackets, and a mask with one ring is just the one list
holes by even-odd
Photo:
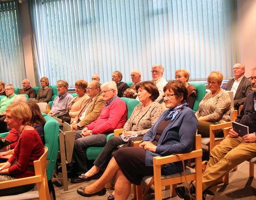
[[154, 65], [151, 68], [152, 73], [152, 81], [156, 84], [158, 91], [159, 91], [159, 97], [156, 99], [157, 102], [159, 102], [161, 99], [163, 99], [164, 95], [164, 86], [167, 84], [167, 81], [164, 79], [164, 67], [162, 65]]

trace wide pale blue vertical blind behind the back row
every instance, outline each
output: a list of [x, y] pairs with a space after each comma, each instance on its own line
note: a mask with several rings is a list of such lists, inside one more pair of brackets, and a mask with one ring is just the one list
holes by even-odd
[[101, 82], [115, 70], [131, 81], [132, 69], [151, 79], [186, 68], [190, 79], [219, 70], [231, 77], [236, 62], [236, 1], [231, 0], [31, 0], [39, 77]]

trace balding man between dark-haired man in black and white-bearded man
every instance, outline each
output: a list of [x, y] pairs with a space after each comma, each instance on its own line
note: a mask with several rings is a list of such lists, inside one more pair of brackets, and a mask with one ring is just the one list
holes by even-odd
[[124, 97], [136, 99], [137, 91], [136, 85], [141, 82], [141, 72], [138, 69], [134, 69], [131, 73], [132, 85], [129, 89], [124, 91]]

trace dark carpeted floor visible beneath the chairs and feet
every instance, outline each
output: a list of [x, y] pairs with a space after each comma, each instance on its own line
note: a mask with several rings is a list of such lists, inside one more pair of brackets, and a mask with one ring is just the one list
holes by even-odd
[[[255, 171], [254, 165], [254, 171]], [[249, 162], [244, 162], [238, 165], [237, 171], [232, 171], [229, 173], [229, 185], [223, 186], [219, 185], [218, 192], [215, 196], [207, 196], [206, 200], [217, 199], [217, 200], [231, 200], [231, 199], [243, 199], [243, 200], [255, 200], [256, 199], [256, 172], [254, 178], [249, 177]], [[69, 183], [68, 193], [63, 193], [62, 186], [55, 182], [55, 194], [57, 199], [61, 200], [79, 200], [79, 199], [93, 199], [93, 200], [106, 200], [108, 195], [111, 194], [113, 190], [108, 190], [104, 196], [94, 196], [94, 197], [82, 197], [76, 193], [78, 187], [88, 186], [95, 180], [89, 182], [72, 184]], [[133, 199], [133, 194], [128, 198]], [[149, 194], [146, 196], [146, 200], [154, 199], [154, 191], [150, 190]], [[170, 190], [163, 191], [163, 199], [173, 199], [178, 200], [179, 197], [171, 197]]]

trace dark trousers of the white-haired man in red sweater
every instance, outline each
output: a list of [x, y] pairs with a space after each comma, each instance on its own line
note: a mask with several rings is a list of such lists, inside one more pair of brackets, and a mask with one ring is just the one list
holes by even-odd
[[82, 137], [79, 134], [81, 132], [82, 131], [76, 131], [73, 156], [69, 165], [77, 174], [86, 173], [89, 170], [86, 149], [89, 147], [104, 147], [107, 139], [106, 134], [93, 134]]

